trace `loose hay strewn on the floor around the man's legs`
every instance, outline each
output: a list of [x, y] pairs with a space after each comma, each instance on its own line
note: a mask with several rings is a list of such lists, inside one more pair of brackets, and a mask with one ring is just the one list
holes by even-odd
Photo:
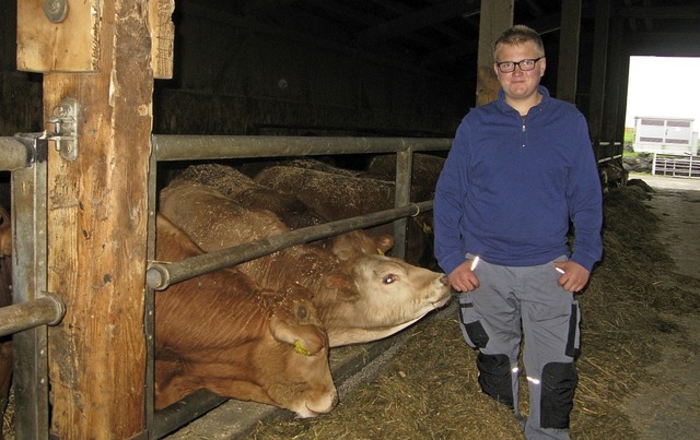
[[[583, 354], [573, 438], [637, 437], [621, 406], [658, 359], [665, 335], [680, 331], [664, 316], [700, 311], [700, 282], [672, 272], [656, 239], [660, 219], [643, 203], [649, 197], [638, 187], [606, 193], [604, 261], [579, 297]], [[462, 337], [454, 304], [451, 309], [416, 325], [392, 365], [330, 414], [260, 423], [250, 438], [523, 438], [511, 412], [480, 392], [476, 352]], [[521, 390], [527, 413], [524, 383]]]

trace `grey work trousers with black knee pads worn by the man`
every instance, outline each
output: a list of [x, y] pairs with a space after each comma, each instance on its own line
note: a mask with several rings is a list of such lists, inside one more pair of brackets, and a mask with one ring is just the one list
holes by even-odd
[[[471, 255], [467, 255], [471, 258]], [[555, 261], [565, 261], [561, 257]], [[569, 439], [569, 415], [578, 384], [581, 311], [557, 281], [553, 261], [536, 266], [501, 266], [483, 259], [475, 269], [478, 289], [459, 296], [466, 342], [479, 349], [479, 384], [485, 393], [518, 409], [518, 356], [529, 391], [527, 439]]]

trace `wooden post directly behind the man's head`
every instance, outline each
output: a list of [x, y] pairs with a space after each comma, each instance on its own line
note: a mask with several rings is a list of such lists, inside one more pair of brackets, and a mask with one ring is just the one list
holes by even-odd
[[493, 72], [493, 43], [503, 31], [513, 25], [514, 0], [481, 2], [479, 21], [479, 52], [477, 72], [477, 106], [495, 100], [501, 88]]

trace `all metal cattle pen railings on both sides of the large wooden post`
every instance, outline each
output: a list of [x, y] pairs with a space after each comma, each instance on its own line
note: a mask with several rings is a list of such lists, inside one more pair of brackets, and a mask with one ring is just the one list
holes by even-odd
[[[12, 171], [13, 305], [0, 309], [0, 336], [13, 334], [15, 435], [46, 438], [49, 432], [49, 325], [59, 325], [66, 305], [48, 292], [47, 181], [49, 145], [60, 148], [61, 140], [50, 133], [22, 133], [0, 138], [0, 169]], [[406, 217], [432, 210], [432, 201], [410, 202], [415, 152], [444, 152], [451, 139], [320, 138], [320, 136], [221, 136], [153, 135], [149, 167], [148, 270], [144, 286], [144, 341], [147, 372], [144, 394], [145, 431], [140, 438], [162, 438], [221, 405], [228, 399], [195, 393], [184, 402], [154, 409], [154, 289], [163, 289], [194, 276], [231, 266], [284, 247], [310, 242], [343, 231], [394, 222], [394, 255], [404, 257]], [[71, 146], [77, 148], [78, 145]], [[155, 262], [155, 213], [158, 163], [166, 160], [213, 160], [250, 157], [300, 157], [342, 154], [396, 154], [395, 209], [346, 221], [302, 228], [256, 242], [194, 257], [180, 262]], [[63, 157], [66, 159], [66, 157]], [[68, 159], [67, 159], [68, 160]], [[373, 353], [373, 356], [378, 356]], [[353, 368], [362, 368], [357, 365]], [[345, 372], [349, 374], [351, 372]], [[24, 392], [32, 390], [33, 392]]]

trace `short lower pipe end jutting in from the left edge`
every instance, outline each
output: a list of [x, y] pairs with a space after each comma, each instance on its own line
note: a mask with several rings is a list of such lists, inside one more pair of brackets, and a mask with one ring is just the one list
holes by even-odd
[[0, 308], [0, 336], [22, 332], [39, 325], [56, 325], [66, 314], [59, 297], [48, 294], [38, 299]]

